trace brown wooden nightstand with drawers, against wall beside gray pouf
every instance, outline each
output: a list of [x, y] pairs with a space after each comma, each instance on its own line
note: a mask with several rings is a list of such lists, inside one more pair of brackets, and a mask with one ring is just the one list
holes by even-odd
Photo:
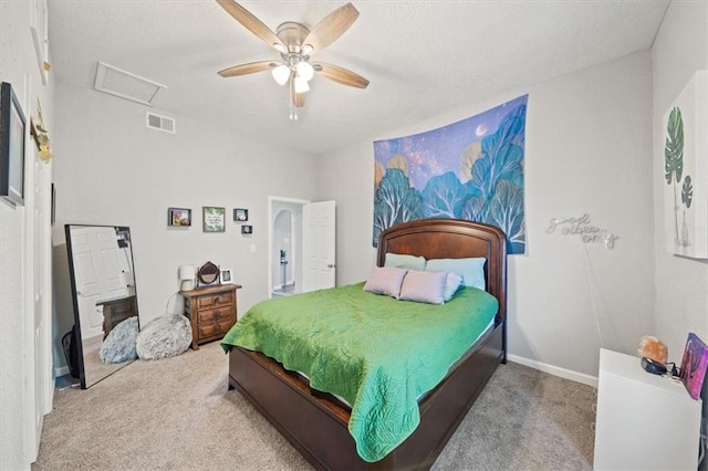
[[179, 292], [185, 296], [185, 315], [191, 322], [191, 348], [223, 337], [236, 324], [236, 290], [240, 287], [221, 284]]

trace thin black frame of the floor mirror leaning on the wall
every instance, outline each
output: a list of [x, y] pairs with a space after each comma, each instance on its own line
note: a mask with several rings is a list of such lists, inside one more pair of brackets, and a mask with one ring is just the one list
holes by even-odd
[[[76, 341], [76, 354], [77, 354], [77, 368], [79, 368], [79, 379], [81, 381], [81, 388], [82, 389], [87, 389], [88, 387], [102, 381], [103, 379], [107, 378], [108, 376], [113, 375], [114, 373], [118, 371], [119, 369], [122, 369], [123, 367], [127, 366], [128, 364], [133, 363], [134, 360], [127, 360], [124, 362], [122, 364], [116, 364], [116, 368], [113, 369], [111, 373], [106, 374], [105, 376], [96, 379], [95, 381], [91, 383], [91, 384], [86, 384], [86, 371], [85, 371], [85, 363], [84, 363], [84, 345], [83, 345], [83, 335], [82, 335], [82, 328], [81, 328], [81, 315], [80, 315], [80, 311], [79, 311], [79, 292], [76, 289], [76, 272], [74, 269], [74, 253], [73, 253], [73, 241], [72, 241], [72, 237], [71, 237], [71, 229], [72, 228], [111, 228], [114, 229], [116, 231], [116, 236], [118, 232], [126, 232], [128, 234], [128, 244], [129, 244], [129, 249], [131, 249], [131, 268], [133, 270], [133, 291], [134, 291], [134, 296], [135, 296], [135, 316], [137, 317], [137, 322], [138, 322], [138, 329], [139, 329], [139, 325], [140, 325], [140, 316], [139, 316], [139, 307], [138, 307], [138, 303], [137, 303], [137, 280], [135, 276], [135, 259], [133, 257], [133, 237], [131, 236], [131, 228], [127, 226], [111, 226], [111, 224], [64, 224], [64, 234], [66, 238], [66, 254], [69, 258], [69, 280], [71, 282], [71, 290], [72, 290], [72, 303], [73, 303], [73, 307], [74, 307], [74, 324], [75, 324], [75, 329], [76, 329], [76, 336], [73, 337]], [[116, 238], [117, 239], [117, 238]], [[118, 247], [119, 242], [118, 242]]]

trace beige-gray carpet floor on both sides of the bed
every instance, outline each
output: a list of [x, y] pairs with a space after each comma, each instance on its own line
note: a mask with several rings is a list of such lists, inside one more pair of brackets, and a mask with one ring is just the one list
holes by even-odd
[[[32, 470], [309, 470], [238, 393], [218, 343], [56, 390]], [[501, 365], [434, 470], [590, 470], [589, 386]]]

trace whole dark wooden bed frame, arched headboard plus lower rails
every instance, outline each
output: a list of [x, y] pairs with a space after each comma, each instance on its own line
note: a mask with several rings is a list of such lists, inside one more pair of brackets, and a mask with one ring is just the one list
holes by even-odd
[[377, 265], [387, 252], [426, 259], [485, 257], [487, 291], [499, 300], [494, 326], [458, 366], [419, 402], [420, 425], [383, 460], [356, 453], [347, 430], [350, 409], [310, 389], [296, 373], [240, 347], [229, 353], [229, 389], [238, 389], [316, 469], [428, 469], [467, 415], [497, 366], [507, 360], [507, 249], [501, 230], [454, 219], [425, 219], [381, 234]]

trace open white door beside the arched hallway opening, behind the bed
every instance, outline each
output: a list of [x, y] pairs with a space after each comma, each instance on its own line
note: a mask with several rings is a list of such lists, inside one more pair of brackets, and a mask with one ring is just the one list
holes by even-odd
[[303, 292], [334, 287], [336, 281], [336, 216], [334, 201], [302, 207]]

